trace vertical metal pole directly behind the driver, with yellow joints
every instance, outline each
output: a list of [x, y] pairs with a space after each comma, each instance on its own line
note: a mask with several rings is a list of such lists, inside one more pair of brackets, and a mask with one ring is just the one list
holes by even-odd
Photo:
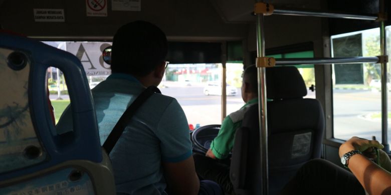
[[[265, 56], [265, 37], [264, 37], [264, 15], [257, 15], [257, 51], [258, 57]], [[262, 194], [268, 194], [268, 130], [266, 117], [266, 70], [264, 67], [258, 67], [258, 97], [259, 97], [259, 126], [260, 126], [260, 155], [261, 155], [261, 174], [262, 174]]]

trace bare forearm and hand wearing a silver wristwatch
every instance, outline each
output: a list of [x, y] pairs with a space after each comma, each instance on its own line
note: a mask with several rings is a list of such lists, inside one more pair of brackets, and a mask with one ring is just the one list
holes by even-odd
[[[369, 194], [391, 194], [391, 160], [376, 140], [352, 137], [339, 147], [341, 163], [347, 166]], [[377, 158], [378, 165], [369, 158]]]

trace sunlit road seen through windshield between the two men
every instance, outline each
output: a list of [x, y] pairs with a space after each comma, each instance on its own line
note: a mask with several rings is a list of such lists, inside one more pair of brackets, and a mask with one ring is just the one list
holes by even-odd
[[[227, 63], [227, 114], [244, 105], [242, 63]], [[221, 124], [222, 64], [169, 64], [160, 88], [182, 106], [190, 127]]]

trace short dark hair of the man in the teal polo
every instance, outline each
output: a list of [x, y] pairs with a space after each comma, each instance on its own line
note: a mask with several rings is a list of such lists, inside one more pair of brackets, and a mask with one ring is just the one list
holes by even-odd
[[145, 76], [165, 61], [167, 38], [156, 25], [133, 21], [121, 26], [114, 35], [111, 71]]

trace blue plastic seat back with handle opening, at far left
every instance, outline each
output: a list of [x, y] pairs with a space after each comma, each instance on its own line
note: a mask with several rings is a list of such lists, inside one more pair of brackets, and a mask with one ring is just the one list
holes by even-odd
[[[58, 134], [46, 71], [66, 77], [73, 131]], [[40, 41], [0, 32], [0, 194], [114, 194], [80, 60]]]

